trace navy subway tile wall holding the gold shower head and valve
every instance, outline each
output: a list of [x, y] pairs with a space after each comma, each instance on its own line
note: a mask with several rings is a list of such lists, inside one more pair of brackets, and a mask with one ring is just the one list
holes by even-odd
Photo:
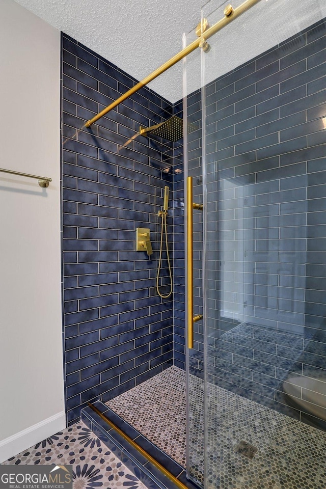
[[[173, 105], [143, 88], [90, 128], [85, 122], [137, 80], [62, 35], [62, 249], [67, 421], [173, 363], [173, 296], [157, 295], [164, 186], [173, 143], [139, 136]], [[168, 234], [173, 259], [173, 205]], [[150, 228], [153, 255], [135, 251]], [[164, 259], [160, 283], [167, 283]]]

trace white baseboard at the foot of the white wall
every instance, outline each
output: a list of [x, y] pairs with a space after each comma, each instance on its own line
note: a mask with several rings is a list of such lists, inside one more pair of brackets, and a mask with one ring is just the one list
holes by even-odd
[[64, 411], [0, 441], [0, 464], [66, 427]]

